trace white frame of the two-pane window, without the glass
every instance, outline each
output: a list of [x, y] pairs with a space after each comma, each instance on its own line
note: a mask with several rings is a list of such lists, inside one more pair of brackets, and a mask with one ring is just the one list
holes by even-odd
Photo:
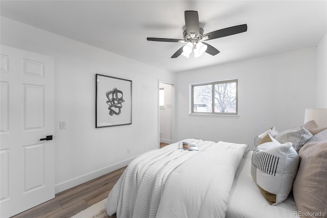
[[[215, 111], [215, 89], [214, 86], [216, 84], [222, 84], [222, 83], [236, 83], [236, 112], [235, 113], [228, 113], [228, 112], [214, 112]], [[194, 87], [195, 86], [203, 86], [203, 85], [212, 85], [212, 111], [213, 112], [197, 112], [194, 111]], [[225, 81], [216, 81], [216, 82], [208, 82], [208, 83], [197, 83], [197, 84], [191, 84], [190, 87], [190, 98], [191, 98], [191, 104], [190, 104], [190, 114], [200, 114], [200, 115], [231, 115], [231, 116], [238, 116], [238, 80], [225, 80]]]

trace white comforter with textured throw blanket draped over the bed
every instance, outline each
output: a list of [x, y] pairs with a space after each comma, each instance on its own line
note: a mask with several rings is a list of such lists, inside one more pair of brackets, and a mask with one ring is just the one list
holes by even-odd
[[225, 217], [233, 178], [248, 147], [188, 141], [197, 142], [199, 151], [178, 150], [175, 143], [135, 158], [111, 190], [107, 213], [124, 218]]

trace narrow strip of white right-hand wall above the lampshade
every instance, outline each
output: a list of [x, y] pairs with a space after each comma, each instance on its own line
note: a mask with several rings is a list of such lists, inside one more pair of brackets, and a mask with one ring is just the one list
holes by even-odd
[[317, 108], [327, 108], [327, 33], [317, 46]]

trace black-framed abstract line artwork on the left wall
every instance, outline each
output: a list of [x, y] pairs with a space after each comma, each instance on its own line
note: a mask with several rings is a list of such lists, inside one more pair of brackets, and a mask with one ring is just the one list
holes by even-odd
[[132, 124], [132, 81], [96, 75], [96, 128]]

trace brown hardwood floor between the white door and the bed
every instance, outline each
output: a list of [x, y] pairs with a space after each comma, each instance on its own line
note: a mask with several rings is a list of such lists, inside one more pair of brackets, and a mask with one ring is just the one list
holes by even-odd
[[107, 198], [111, 188], [120, 178], [125, 168], [126, 166], [57, 193], [54, 199], [12, 216], [12, 218], [71, 217]]

